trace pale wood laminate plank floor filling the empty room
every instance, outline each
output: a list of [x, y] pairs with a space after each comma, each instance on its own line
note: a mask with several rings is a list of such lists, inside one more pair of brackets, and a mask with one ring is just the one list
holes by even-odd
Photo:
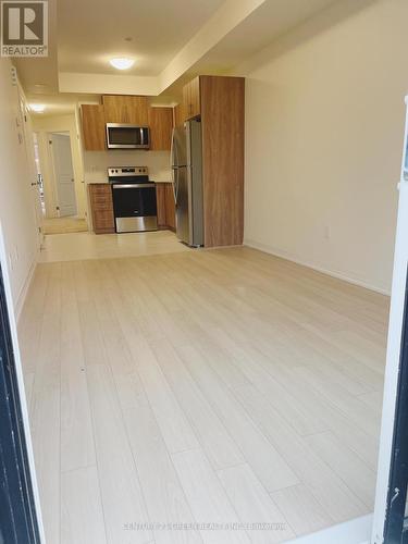
[[20, 336], [48, 542], [274, 543], [372, 511], [387, 311], [249, 248], [39, 264]]

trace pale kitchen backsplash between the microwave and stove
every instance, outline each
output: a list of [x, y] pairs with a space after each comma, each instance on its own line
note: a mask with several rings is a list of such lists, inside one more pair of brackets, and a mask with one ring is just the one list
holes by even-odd
[[108, 182], [110, 166], [148, 166], [153, 182], [170, 182], [169, 151], [84, 151], [86, 183]]

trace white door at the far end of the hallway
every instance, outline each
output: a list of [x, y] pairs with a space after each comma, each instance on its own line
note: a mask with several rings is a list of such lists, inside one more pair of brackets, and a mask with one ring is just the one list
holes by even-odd
[[60, 217], [76, 215], [75, 177], [70, 135], [52, 134], [51, 141]]

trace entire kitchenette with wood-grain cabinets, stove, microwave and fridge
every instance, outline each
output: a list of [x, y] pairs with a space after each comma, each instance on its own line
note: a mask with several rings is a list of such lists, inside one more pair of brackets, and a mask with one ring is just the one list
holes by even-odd
[[244, 83], [197, 76], [175, 107], [112, 95], [82, 104], [95, 234], [170, 230], [191, 247], [242, 244]]

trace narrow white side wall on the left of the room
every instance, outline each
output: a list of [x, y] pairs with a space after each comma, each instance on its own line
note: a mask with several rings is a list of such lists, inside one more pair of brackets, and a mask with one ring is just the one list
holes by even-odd
[[17, 309], [38, 250], [30, 187], [34, 180], [24, 145], [23, 123], [17, 87], [11, 81], [11, 62], [0, 59], [0, 222], [12, 297]]

